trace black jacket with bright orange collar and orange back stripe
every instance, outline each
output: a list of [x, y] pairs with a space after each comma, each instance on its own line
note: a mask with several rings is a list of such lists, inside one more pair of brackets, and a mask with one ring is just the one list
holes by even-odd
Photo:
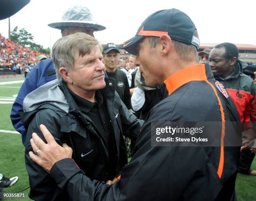
[[[228, 135], [241, 137], [241, 127], [237, 130], [226, 127], [230, 121], [240, 125], [233, 101], [218, 89], [210, 67], [205, 65], [174, 73], [164, 85], [169, 95], [149, 112], [137, 138], [135, 154], [122, 169], [120, 180], [111, 186], [90, 181], [86, 172], [84, 175], [67, 158], [54, 164], [51, 176], [69, 200], [236, 200], [240, 147], [222, 146]], [[213, 131], [220, 143], [207, 147], [151, 146], [152, 123], [156, 121], [219, 122]]]

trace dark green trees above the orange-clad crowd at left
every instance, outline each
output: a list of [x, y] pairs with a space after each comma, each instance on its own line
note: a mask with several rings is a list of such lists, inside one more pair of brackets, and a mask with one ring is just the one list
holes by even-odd
[[50, 48], [44, 49], [43, 45], [38, 45], [33, 42], [34, 36], [29, 33], [24, 28], [18, 29], [16, 26], [11, 31], [11, 40], [13, 40], [15, 43], [20, 43], [20, 45], [26, 46], [28, 48], [31, 48], [33, 51], [41, 52], [45, 54], [50, 54]]

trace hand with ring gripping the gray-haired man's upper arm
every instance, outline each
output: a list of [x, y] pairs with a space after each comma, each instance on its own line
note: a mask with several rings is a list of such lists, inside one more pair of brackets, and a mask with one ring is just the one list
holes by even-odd
[[47, 144], [44, 143], [44, 141], [36, 133], [33, 133], [30, 141], [34, 153], [30, 151], [29, 156], [39, 166], [44, 168], [47, 172], [50, 172], [54, 163], [64, 158], [72, 157], [72, 148], [67, 146], [66, 143], [59, 146], [46, 126], [41, 124], [40, 129], [44, 134]]

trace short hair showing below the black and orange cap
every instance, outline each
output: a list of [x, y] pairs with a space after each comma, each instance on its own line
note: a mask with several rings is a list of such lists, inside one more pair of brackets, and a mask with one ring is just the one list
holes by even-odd
[[[195, 30], [194, 35], [198, 37], [197, 30]], [[156, 36], [149, 36], [149, 43], [151, 48], [155, 48], [156, 44], [159, 43], [160, 38]], [[185, 43], [181, 43], [177, 40], [172, 40], [172, 43], [174, 44], [174, 48], [179, 55], [179, 57], [184, 61], [191, 61], [193, 59], [196, 59], [198, 62], [198, 53], [197, 48], [194, 45], [188, 45]], [[189, 57], [189, 54], [191, 52], [194, 52], [195, 58]]]

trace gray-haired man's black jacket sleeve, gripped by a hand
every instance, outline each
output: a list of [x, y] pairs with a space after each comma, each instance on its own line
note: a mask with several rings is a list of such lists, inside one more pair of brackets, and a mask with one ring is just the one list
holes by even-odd
[[51, 109], [38, 111], [28, 126], [26, 139], [25, 162], [30, 185], [29, 197], [36, 201], [59, 201], [61, 200], [61, 189], [57, 186], [50, 174], [33, 162], [28, 155], [29, 151], [33, 151], [30, 144], [33, 132], [37, 133], [45, 141], [44, 135], [39, 128], [40, 124], [44, 124], [53, 133], [55, 140], [60, 145], [62, 144], [59, 116]]

